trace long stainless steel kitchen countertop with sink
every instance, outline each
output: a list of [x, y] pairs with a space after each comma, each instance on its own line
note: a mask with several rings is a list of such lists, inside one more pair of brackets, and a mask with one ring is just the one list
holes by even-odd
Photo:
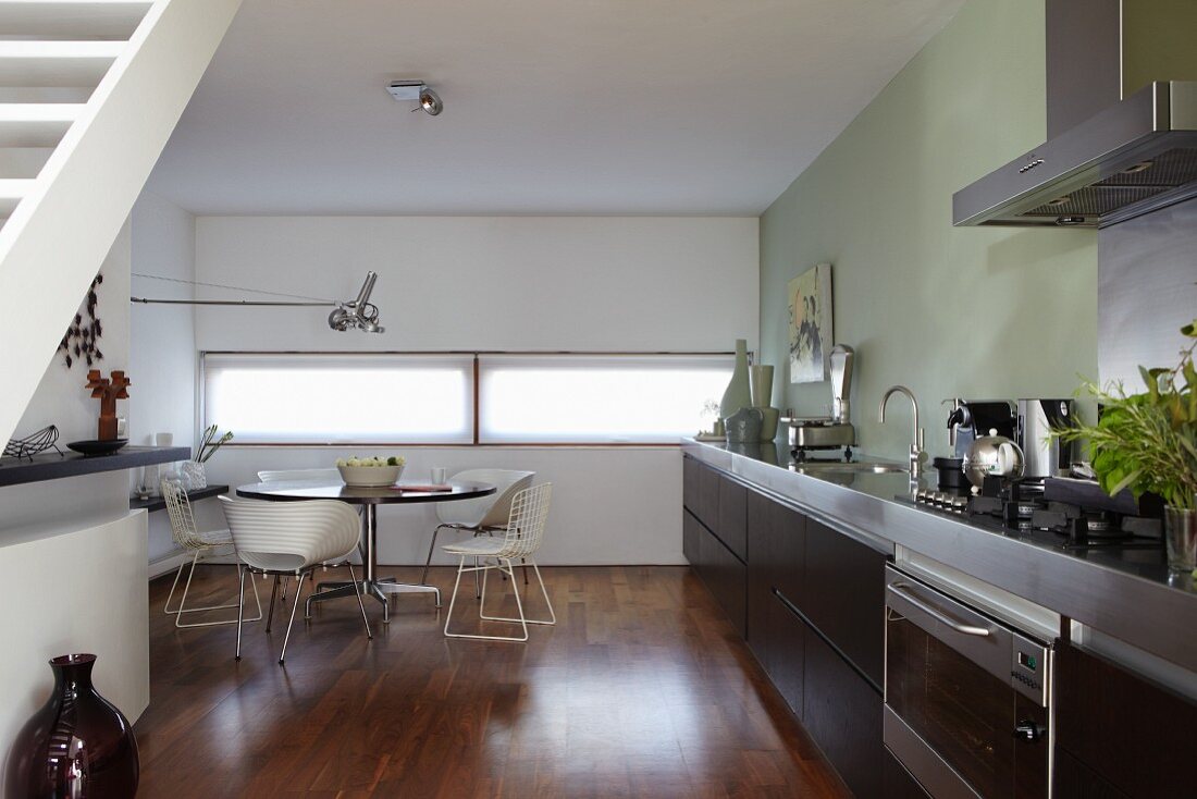
[[1064, 550], [1050, 534], [918, 507], [913, 491], [935, 488], [934, 470], [919, 484], [905, 472], [802, 473], [784, 441], [686, 438], [682, 452], [879, 550], [904, 546], [1197, 672], [1197, 586], [1169, 576], [1162, 551]]

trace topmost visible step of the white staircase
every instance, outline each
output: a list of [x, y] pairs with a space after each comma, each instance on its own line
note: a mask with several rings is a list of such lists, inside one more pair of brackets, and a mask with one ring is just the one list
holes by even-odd
[[127, 40], [151, 5], [152, 0], [0, 0], [0, 34]]

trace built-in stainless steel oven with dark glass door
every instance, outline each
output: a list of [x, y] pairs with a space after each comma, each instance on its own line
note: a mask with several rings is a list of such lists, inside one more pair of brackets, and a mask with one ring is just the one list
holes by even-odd
[[936, 799], [1049, 797], [1049, 643], [886, 568], [889, 751]]

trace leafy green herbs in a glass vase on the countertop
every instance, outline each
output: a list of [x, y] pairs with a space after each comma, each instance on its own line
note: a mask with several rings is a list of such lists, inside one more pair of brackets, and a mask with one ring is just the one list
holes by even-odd
[[1128, 394], [1122, 383], [1105, 388], [1086, 382], [1082, 391], [1101, 406], [1094, 425], [1057, 430], [1065, 441], [1088, 440], [1093, 471], [1113, 496], [1128, 489], [1136, 498], [1163, 498], [1168, 567], [1197, 567], [1197, 320], [1180, 328], [1190, 345], [1169, 368], [1140, 367], [1146, 391]]

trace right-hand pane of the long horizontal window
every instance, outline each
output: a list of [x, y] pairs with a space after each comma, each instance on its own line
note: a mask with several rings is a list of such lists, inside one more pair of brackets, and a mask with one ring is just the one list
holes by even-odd
[[481, 443], [673, 443], [703, 428], [730, 356], [484, 356]]

